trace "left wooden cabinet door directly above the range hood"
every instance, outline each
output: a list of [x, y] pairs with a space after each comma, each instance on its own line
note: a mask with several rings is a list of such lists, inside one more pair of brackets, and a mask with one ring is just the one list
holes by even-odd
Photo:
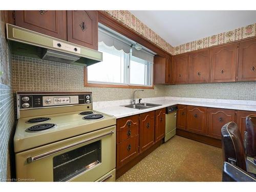
[[15, 11], [15, 25], [67, 40], [67, 11]]

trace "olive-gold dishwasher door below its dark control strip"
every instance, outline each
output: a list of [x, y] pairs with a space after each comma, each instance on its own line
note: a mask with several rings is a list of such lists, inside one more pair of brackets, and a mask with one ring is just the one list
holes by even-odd
[[168, 141], [170, 138], [175, 136], [175, 134], [176, 134], [176, 118], [177, 118], [177, 111], [173, 111], [172, 113], [168, 113], [168, 114], [166, 113], [164, 142]]

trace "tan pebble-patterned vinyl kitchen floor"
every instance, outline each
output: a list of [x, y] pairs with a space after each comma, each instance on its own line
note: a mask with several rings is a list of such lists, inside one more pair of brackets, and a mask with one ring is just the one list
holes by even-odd
[[117, 181], [221, 181], [221, 148], [175, 136]]

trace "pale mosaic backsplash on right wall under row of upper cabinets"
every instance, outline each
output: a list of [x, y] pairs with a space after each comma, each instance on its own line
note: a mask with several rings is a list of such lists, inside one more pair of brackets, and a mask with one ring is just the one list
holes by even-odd
[[256, 81], [166, 86], [166, 96], [256, 100]]

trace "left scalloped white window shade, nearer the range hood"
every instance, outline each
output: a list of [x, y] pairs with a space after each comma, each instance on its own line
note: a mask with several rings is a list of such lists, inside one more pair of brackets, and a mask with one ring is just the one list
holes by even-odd
[[104, 42], [106, 46], [114, 46], [117, 50], [123, 50], [125, 53], [130, 53], [132, 44], [119, 38], [115, 34], [112, 34], [104, 29], [99, 28], [98, 41]]

